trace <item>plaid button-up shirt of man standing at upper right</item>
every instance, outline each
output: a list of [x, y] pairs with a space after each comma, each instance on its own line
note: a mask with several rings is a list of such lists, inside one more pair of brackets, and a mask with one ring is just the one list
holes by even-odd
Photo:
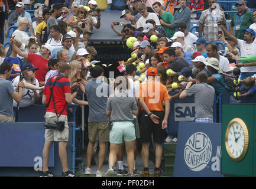
[[[226, 18], [223, 11], [214, 10], [212, 11], [212, 14], [210, 14], [209, 9], [206, 9], [202, 12], [202, 15], [199, 18], [199, 23], [203, 24], [203, 38], [205, 38], [206, 41], [219, 41], [219, 27], [213, 27], [214, 24], [212, 18], [215, 20], [214, 22], [217, 22], [218, 18], [218, 21], [223, 21], [223, 24], [226, 24]], [[222, 33], [224, 32], [222, 31]]]

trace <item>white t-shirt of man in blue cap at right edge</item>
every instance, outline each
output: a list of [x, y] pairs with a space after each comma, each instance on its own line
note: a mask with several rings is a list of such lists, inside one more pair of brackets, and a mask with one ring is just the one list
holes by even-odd
[[[244, 40], [237, 40], [238, 48], [240, 50], [241, 57], [255, 56], [256, 54], [256, 42], [247, 44]], [[256, 66], [241, 67], [241, 72], [255, 72]]]

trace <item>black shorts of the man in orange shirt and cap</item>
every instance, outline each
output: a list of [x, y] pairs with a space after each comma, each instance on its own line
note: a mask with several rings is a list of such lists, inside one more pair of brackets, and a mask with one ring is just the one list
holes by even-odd
[[157, 115], [159, 123], [155, 124], [151, 118], [144, 111], [141, 113], [141, 139], [142, 142], [150, 142], [151, 134], [153, 133], [154, 142], [161, 144], [164, 142], [164, 129], [162, 129], [162, 120], [164, 119], [164, 112], [153, 111]]

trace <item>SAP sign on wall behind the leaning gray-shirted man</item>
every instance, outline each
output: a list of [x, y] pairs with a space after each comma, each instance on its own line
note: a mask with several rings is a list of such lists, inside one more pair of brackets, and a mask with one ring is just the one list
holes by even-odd
[[175, 103], [174, 110], [176, 122], [195, 119], [195, 103]]

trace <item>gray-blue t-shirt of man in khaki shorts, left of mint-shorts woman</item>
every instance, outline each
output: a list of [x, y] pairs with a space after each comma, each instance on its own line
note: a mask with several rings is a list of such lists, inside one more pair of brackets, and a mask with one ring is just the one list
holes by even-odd
[[108, 96], [111, 92], [107, 83], [102, 80], [93, 79], [91, 82], [85, 83], [85, 92], [89, 103], [90, 122], [107, 122], [106, 105]]

